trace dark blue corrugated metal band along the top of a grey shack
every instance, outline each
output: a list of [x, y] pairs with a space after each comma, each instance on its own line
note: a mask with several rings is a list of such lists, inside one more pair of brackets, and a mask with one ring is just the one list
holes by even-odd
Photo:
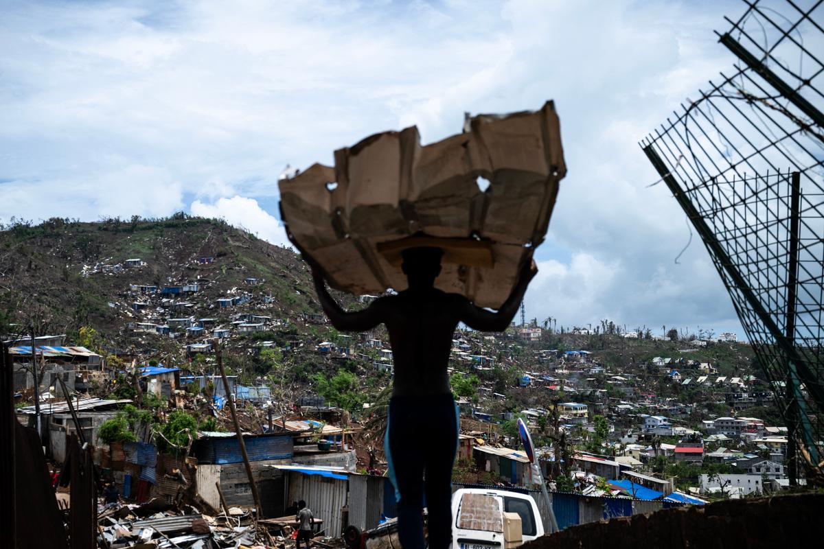
[[[249, 461], [291, 459], [293, 457], [293, 436], [260, 435], [244, 437]], [[201, 439], [194, 443], [194, 454], [198, 463], [241, 463], [243, 455], [236, 439]]]

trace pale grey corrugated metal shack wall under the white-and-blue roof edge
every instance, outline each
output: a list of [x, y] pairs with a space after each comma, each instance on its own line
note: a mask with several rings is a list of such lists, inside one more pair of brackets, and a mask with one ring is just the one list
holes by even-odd
[[287, 482], [289, 501], [306, 501], [315, 518], [323, 520], [321, 528], [327, 536], [337, 537], [342, 533], [341, 509], [346, 505], [348, 481], [288, 471]]

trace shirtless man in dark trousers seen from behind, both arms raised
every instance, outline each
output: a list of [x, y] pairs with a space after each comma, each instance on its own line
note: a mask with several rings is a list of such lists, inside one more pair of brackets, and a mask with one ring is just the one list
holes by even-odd
[[351, 313], [335, 302], [320, 269], [309, 262], [321, 306], [335, 328], [363, 332], [384, 323], [389, 332], [395, 375], [384, 447], [404, 549], [424, 549], [424, 489], [429, 547], [447, 549], [452, 537], [452, 464], [460, 422], [447, 364], [455, 328], [462, 322], [483, 332], [503, 332], [537, 272], [535, 262], [527, 263], [512, 294], [494, 313], [476, 307], [463, 295], [434, 287], [442, 254], [438, 248], [405, 250], [402, 268], [409, 288]]

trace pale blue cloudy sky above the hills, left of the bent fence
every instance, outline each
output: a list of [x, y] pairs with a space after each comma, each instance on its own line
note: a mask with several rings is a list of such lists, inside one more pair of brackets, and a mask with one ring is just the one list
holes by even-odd
[[0, 2], [0, 220], [221, 216], [274, 244], [284, 166], [554, 99], [569, 174], [527, 317], [742, 335], [638, 141], [733, 58], [742, 2]]

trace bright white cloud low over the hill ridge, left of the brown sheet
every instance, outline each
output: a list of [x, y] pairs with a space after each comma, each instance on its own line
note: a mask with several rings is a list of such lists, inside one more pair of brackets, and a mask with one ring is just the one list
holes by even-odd
[[269, 244], [291, 245], [283, 224], [265, 212], [254, 198], [219, 198], [213, 204], [195, 200], [190, 209], [195, 216], [226, 220], [230, 225], [245, 229]]

